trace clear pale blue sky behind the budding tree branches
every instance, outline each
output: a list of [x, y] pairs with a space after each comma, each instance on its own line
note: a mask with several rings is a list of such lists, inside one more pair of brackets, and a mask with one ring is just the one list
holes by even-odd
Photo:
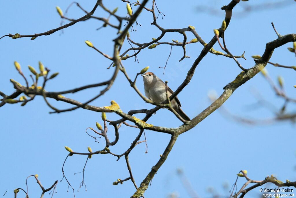
[[[229, 0], [230, 1], [230, 0]], [[157, 1], [158, 8], [165, 13], [165, 18], [158, 19], [158, 23], [164, 28], [184, 28], [188, 25], [195, 26], [199, 35], [209, 42], [213, 37], [213, 29], [221, 26], [224, 11], [220, 8], [229, 1], [211, 1], [209, 6], [216, 9], [216, 14], [198, 13], [197, 1]], [[0, 12], [1, 30], [0, 35], [7, 33], [33, 34], [41, 33], [59, 26], [60, 17], [55, 7], [65, 9], [72, 1], [1, 1]], [[268, 2], [268, 1], [260, 1]], [[242, 5], [258, 5], [259, 1], [240, 2], [234, 12], [242, 10]], [[269, 1], [276, 2], [276, 1]], [[294, 1], [293, 1], [294, 2]], [[91, 10], [95, 1], [81, 1], [81, 6]], [[114, 9], [119, 7], [118, 13], [126, 14], [126, 4], [121, 1], [104, 1], [104, 4]], [[151, 2], [148, 3], [148, 7]], [[68, 16], [78, 18], [83, 16], [78, 8], [73, 6]], [[107, 17], [100, 8], [95, 12], [96, 16]], [[160, 35], [156, 27], [150, 25], [152, 15], [143, 11], [138, 19], [142, 25], [137, 27], [137, 32], [131, 32], [131, 39], [138, 43], [149, 42], [152, 37]], [[265, 44], [277, 38], [271, 26], [274, 22], [278, 32], [282, 35], [295, 33], [295, 2], [278, 9], [265, 9], [251, 12], [250, 14], [234, 14], [226, 31], [226, 43], [229, 50], [235, 55], [241, 55], [246, 51], [247, 60], [239, 61], [245, 68], [254, 65], [252, 55], [262, 55]], [[74, 26], [64, 29], [64, 34], [56, 32], [50, 36], [42, 36], [36, 40], [30, 38], [0, 40], [1, 72], [0, 90], [11, 94], [13, 86], [10, 78], [24, 84], [23, 79], [13, 66], [18, 61], [25, 75], [30, 72], [27, 65], [38, 68], [38, 61], [42, 61], [52, 72], [59, 72], [59, 76], [46, 86], [48, 91], [62, 91], [81, 85], [101, 82], [112, 75], [114, 68], [107, 70], [110, 61], [102, 55], [86, 46], [85, 40], [90, 40], [101, 51], [112, 55], [112, 39], [116, 31], [110, 27], [96, 31], [102, 22], [89, 20], [79, 22]], [[188, 40], [193, 37], [187, 33]], [[163, 41], [171, 39], [183, 40], [180, 34], [170, 33], [165, 35]], [[295, 57], [287, 51], [291, 47], [288, 43], [274, 51], [272, 62], [283, 65], [295, 65]], [[128, 48], [125, 42], [123, 49]], [[220, 50], [216, 44], [215, 49]], [[202, 50], [200, 43], [194, 43], [186, 47], [190, 59], [178, 60], [182, 56], [181, 47], [173, 47], [172, 55], [168, 61], [165, 75], [162, 74], [167, 60], [170, 46], [157, 46], [155, 49], [144, 49], [139, 55], [140, 63], [133, 59], [124, 61], [124, 65], [131, 77], [146, 66], [163, 80], [168, 80], [169, 86], [175, 90], [183, 82], [186, 73], [195, 58]], [[129, 53], [131, 55], [131, 53]], [[278, 75], [285, 79], [286, 92], [291, 97], [296, 97], [296, 84], [294, 70], [267, 66], [268, 72], [276, 80]], [[241, 72], [232, 59], [208, 54], [199, 64], [191, 83], [178, 95], [182, 103], [182, 109], [193, 118], [209, 104], [208, 90], [216, 90], [218, 94], [223, 92], [223, 87], [231, 82]], [[139, 89], [143, 90], [142, 80], [137, 81]], [[281, 108], [283, 100], [275, 96], [266, 80], [257, 75], [252, 80], [239, 87], [226, 101], [225, 106], [231, 112], [246, 118], [267, 119], [273, 113], [265, 108], [251, 109], [249, 105], [256, 103], [256, 99], [250, 93], [256, 88], [266, 100]], [[97, 95], [100, 88], [93, 88], [75, 95], [67, 95], [79, 101]], [[152, 108], [145, 103], [128, 85], [122, 73], [119, 73], [115, 84], [104, 96], [92, 102], [95, 106], [107, 106], [110, 100], [115, 100], [123, 111], [131, 109]], [[58, 108], [70, 107], [68, 104], [50, 100]], [[0, 193], [5, 197], [13, 197], [13, 190], [20, 187], [25, 189], [25, 179], [31, 174], [38, 174], [45, 188], [51, 186], [55, 180], [62, 178], [62, 163], [67, 156], [64, 146], [71, 147], [74, 151], [87, 152], [87, 147], [100, 150], [104, 147], [104, 141], [98, 144], [85, 134], [87, 127], [95, 127], [99, 121], [100, 113], [78, 109], [73, 112], [61, 114], [49, 114], [51, 111], [41, 97], [36, 97], [24, 107], [7, 104], [0, 108], [1, 116], [1, 185]], [[295, 104], [289, 104], [287, 111], [295, 112]], [[138, 115], [140, 118], [143, 116]], [[107, 114], [108, 119], [115, 120], [119, 117], [115, 114]], [[162, 109], [156, 113], [148, 123], [168, 127], [181, 125], [172, 113]], [[114, 153], [124, 152], [138, 134], [138, 130], [126, 126], [120, 128], [120, 140], [116, 146], [110, 147]], [[110, 139], [114, 138], [114, 132], [110, 128]], [[158, 132], [146, 131], [148, 153], [145, 154], [145, 145], [142, 143], [132, 150], [130, 163], [139, 185], [151, 167], [163, 153], [169, 141], [169, 135]], [[250, 178], [255, 180], [264, 179], [267, 175], [274, 174], [280, 180], [289, 179], [295, 181], [295, 125], [290, 122], [281, 122], [268, 126], [250, 126], [236, 123], [224, 118], [216, 111], [198, 124], [194, 129], [182, 134], [173, 147], [167, 161], [157, 172], [145, 193], [145, 197], [167, 197], [172, 192], [178, 192], [180, 197], [189, 197], [176, 174], [177, 168], [182, 168], [191, 181], [197, 194], [209, 197], [206, 191], [213, 186], [218, 192], [224, 194], [222, 185], [228, 182], [231, 186], [236, 173], [241, 169], [248, 170]], [[143, 140], [144, 137], [141, 137]], [[130, 197], [135, 191], [131, 182], [113, 186], [112, 182], [118, 178], [124, 179], [129, 176], [125, 160], [118, 162], [112, 155], [97, 155], [91, 158], [86, 166], [85, 184], [87, 191], [83, 189], [77, 192], [82, 175], [73, 175], [80, 172], [85, 163], [85, 156], [70, 157], [65, 164], [65, 174], [75, 188], [76, 197]], [[244, 180], [239, 179], [238, 186]], [[39, 186], [33, 178], [28, 181], [29, 196], [38, 197], [41, 194]], [[271, 187], [271, 186], [269, 186]], [[67, 192], [67, 183], [62, 181], [57, 186], [58, 193], [54, 197], [73, 197], [71, 191]], [[294, 190], [295, 191], [295, 190]], [[226, 192], [227, 193], [227, 192]], [[255, 189], [246, 197], [258, 195], [259, 189]], [[24, 197], [22, 193], [20, 197]], [[48, 194], [45, 197], [49, 197]]]

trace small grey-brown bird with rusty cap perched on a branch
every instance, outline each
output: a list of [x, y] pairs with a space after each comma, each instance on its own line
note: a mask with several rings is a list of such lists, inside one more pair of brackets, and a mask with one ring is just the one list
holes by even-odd
[[[165, 93], [165, 83], [159, 77], [152, 72], [141, 74], [141, 76], [143, 76], [144, 90], [147, 98], [155, 103], [161, 103], [167, 99]], [[173, 90], [168, 87], [168, 97], [170, 97], [173, 93]], [[171, 101], [171, 105], [184, 120], [190, 121], [190, 118], [184, 113], [184, 111], [182, 111], [181, 103], [177, 96]]]

